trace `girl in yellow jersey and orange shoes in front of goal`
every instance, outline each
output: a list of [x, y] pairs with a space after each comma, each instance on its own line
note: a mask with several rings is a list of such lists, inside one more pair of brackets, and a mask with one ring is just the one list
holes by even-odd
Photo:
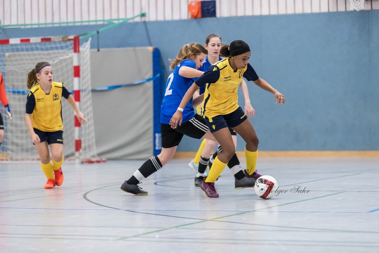
[[[36, 64], [28, 73], [27, 86], [30, 91], [26, 102], [25, 121], [31, 141], [41, 159], [42, 171], [47, 178], [44, 187], [60, 186], [63, 183], [61, 165], [64, 160], [62, 97], [74, 108], [80, 123], [88, 121], [64, 84], [53, 82], [53, 69], [49, 63], [42, 61]], [[50, 163], [47, 145], [50, 145], [53, 164]]]

